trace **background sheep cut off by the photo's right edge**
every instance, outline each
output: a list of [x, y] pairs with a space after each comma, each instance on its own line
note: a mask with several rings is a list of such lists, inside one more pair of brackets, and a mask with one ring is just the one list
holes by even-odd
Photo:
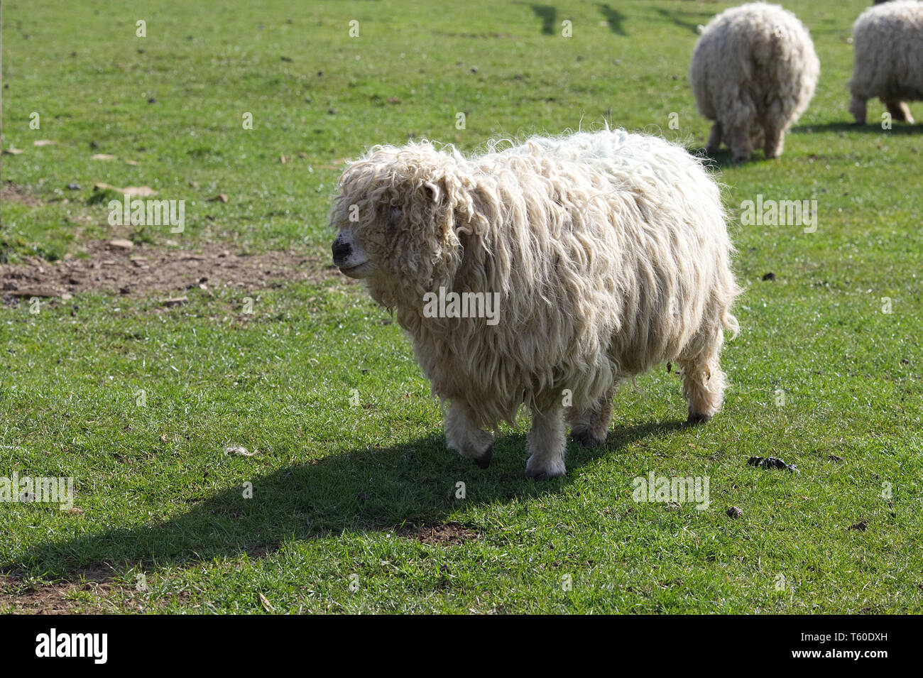
[[894, 120], [913, 123], [906, 101], [923, 99], [923, 3], [899, 0], [869, 7], [853, 24], [856, 65], [849, 113], [866, 122], [866, 101], [878, 97]]

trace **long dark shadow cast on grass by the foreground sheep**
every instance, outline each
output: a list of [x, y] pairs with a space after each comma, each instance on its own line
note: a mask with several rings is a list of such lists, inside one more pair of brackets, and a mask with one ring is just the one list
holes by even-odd
[[[617, 426], [605, 446], [568, 444], [572, 471], [641, 438], [668, 434], [685, 422]], [[248, 553], [263, 557], [291, 540], [343, 531], [390, 531], [442, 522], [460, 501], [490, 504], [560, 492], [572, 476], [534, 482], [524, 476], [525, 436], [501, 436], [487, 470], [450, 452], [442, 435], [408, 445], [354, 449], [252, 479], [252, 498], [231, 487], [187, 513], [155, 524], [107, 529], [47, 542], [5, 563], [0, 572], [38, 572], [78, 581], [102, 565], [140, 565], [150, 571]], [[638, 470], [638, 473], [646, 470]], [[465, 497], [456, 498], [459, 482]], [[49, 509], [52, 510], [52, 509]]]

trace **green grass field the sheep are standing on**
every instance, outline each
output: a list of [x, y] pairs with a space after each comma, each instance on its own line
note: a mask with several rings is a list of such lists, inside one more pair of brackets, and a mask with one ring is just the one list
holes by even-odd
[[[317, 276], [171, 308], [5, 303], [0, 477], [73, 477], [76, 497], [0, 503], [0, 612], [923, 612], [923, 125], [882, 129], [879, 101], [849, 125], [864, 0], [784, 4], [821, 81], [781, 159], [713, 163], [747, 289], [725, 410], [687, 429], [677, 376], [644, 375], [605, 449], [569, 444], [569, 476], [532, 482], [528, 418], [489, 470], [450, 453], [400, 328], [324, 270], [342, 161], [604, 121], [700, 149], [689, 55], [729, 4], [7, 2], [3, 146], [23, 152], [3, 156], [0, 263], [124, 237], [294, 250]], [[110, 226], [98, 182], [186, 200], [186, 230]], [[742, 224], [757, 196], [817, 200], [816, 232]], [[710, 506], [635, 502], [651, 472], [707, 478]]]

